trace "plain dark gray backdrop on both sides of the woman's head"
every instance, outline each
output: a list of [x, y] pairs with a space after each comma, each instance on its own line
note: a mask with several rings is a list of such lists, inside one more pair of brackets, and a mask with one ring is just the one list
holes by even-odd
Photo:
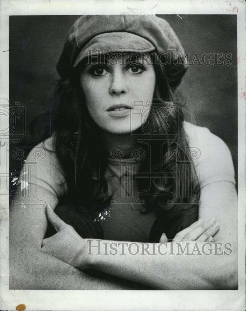
[[[79, 16], [9, 17], [9, 99], [26, 107], [26, 128], [47, 102], [44, 90], [58, 78], [56, 63], [72, 23]], [[161, 15], [177, 33], [185, 52], [232, 53], [230, 66], [190, 66], [180, 85], [196, 124], [222, 138], [232, 153], [237, 179], [237, 16]], [[182, 17], [182, 18], [181, 18]], [[16, 127], [15, 134], [20, 131]], [[27, 131], [15, 146], [34, 146]], [[10, 159], [10, 172], [21, 163]]]

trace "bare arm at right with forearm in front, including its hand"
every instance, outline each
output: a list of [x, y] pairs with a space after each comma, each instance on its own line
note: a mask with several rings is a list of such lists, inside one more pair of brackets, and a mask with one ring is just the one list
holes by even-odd
[[[209, 203], [210, 197], [207, 196], [209, 193], [211, 193], [211, 186], [207, 186], [207, 189], [204, 187], [201, 195], [202, 206], [207, 206]], [[206, 242], [199, 241], [199, 238], [197, 241], [189, 241], [188, 234], [186, 241], [180, 241], [179, 244], [176, 242], [155, 244], [155, 251], [154, 244], [145, 243], [144, 248], [147, 251], [144, 251], [142, 243], [86, 240], [75, 233], [71, 234], [71, 239], [67, 243], [71, 249], [63, 260], [71, 262], [80, 269], [90, 267], [156, 289], [234, 289], [237, 285], [235, 188], [228, 182], [217, 183], [217, 186], [214, 183], [213, 193], [215, 195], [212, 202], [214, 206], [218, 206], [218, 209], [213, 210], [213, 215], [207, 211], [204, 216], [219, 218], [221, 210], [228, 210], [228, 213], [223, 214], [225, 219], [222, 221], [220, 239], [217, 241], [222, 245], [206, 245]], [[55, 220], [56, 216], [52, 212], [50, 214]], [[230, 222], [232, 225], [228, 225]], [[60, 224], [61, 227], [56, 228], [58, 234], [53, 236], [53, 239], [45, 239], [43, 243], [43, 250], [55, 256], [57, 256], [56, 252], [59, 256], [59, 248], [63, 249], [64, 240], [69, 235], [66, 224], [63, 225], [62, 222]], [[204, 230], [201, 234], [203, 232]], [[72, 250], [79, 248], [81, 252], [74, 256]], [[186, 250], [182, 253], [181, 249]]]

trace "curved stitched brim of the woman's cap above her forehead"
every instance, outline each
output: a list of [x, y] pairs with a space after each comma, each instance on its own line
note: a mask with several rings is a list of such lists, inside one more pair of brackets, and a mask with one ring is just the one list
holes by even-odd
[[129, 32], [108, 32], [91, 39], [80, 51], [73, 67], [76, 67], [82, 59], [99, 53], [149, 53], [153, 50], [154, 45], [138, 35]]

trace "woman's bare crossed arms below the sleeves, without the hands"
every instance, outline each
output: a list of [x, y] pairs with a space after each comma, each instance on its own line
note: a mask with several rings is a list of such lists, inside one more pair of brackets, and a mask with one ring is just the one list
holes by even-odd
[[[55, 208], [58, 198], [45, 189], [42, 191], [42, 197]], [[202, 188], [199, 211], [204, 225], [216, 217], [220, 230], [214, 235], [214, 241], [231, 243], [230, 255], [134, 256], [126, 253], [122, 256], [119, 250], [117, 256], [94, 254], [86, 259], [84, 239], [80, 238], [82, 247], [77, 247], [77, 262], [67, 260], [67, 263], [44, 251], [48, 223], [45, 205], [32, 206], [28, 205], [28, 198], [25, 200], [26, 207], [21, 207], [20, 203], [10, 209], [10, 289], [144, 289], [146, 286], [146, 289], [185, 290], [234, 289], [237, 286], [237, 195], [233, 183], [217, 182]], [[187, 242], [188, 239], [179, 243], [184, 248]], [[172, 243], [166, 244], [168, 253], [171, 244], [174, 250], [177, 247]], [[193, 240], [190, 243], [202, 246], [206, 242]], [[85, 268], [115, 278], [92, 276]]]

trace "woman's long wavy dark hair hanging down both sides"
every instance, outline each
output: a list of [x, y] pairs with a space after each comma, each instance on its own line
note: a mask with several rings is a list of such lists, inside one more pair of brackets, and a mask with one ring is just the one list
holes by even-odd
[[[145, 201], [143, 213], [154, 211], [157, 215], [164, 215], [165, 219], [171, 219], [184, 206], [189, 208], [194, 205], [193, 198], [199, 199], [200, 188], [183, 128], [184, 105], [175, 99], [176, 86], [172, 77], [167, 78], [165, 66], [157, 62], [154, 68], [155, 99], [145, 124], [139, 129], [143, 133], [147, 124], [151, 162], [149, 144], [143, 143], [145, 157], [139, 172], [160, 173], [161, 177], [159, 174], [151, 178], [150, 183], [146, 178], [140, 179], [138, 190], [142, 190], [140, 197]], [[86, 107], [80, 70], [81, 67], [75, 69], [71, 77], [54, 84], [50, 107], [43, 114], [43, 120], [49, 120], [49, 129], [41, 139], [51, 134], [56, 137], [55, 152], [65, 173], [69, 201], [84, 210], [93, 210], [108, 206], [111, 195], [104, 177], [106, 154], [98, 128]], [[182, 166], [183, 174], [178, 174], [177, 157], [173, 156], [175, 152], [179, 163], [188, 163]], [[182, 185], [189, 189], [189, 195], [182, 193], [182, 188], [185, 188]], [[151, 196], [144, 196], [147, 189]], [[175, 197], [177, 193], [179, 195]]]

